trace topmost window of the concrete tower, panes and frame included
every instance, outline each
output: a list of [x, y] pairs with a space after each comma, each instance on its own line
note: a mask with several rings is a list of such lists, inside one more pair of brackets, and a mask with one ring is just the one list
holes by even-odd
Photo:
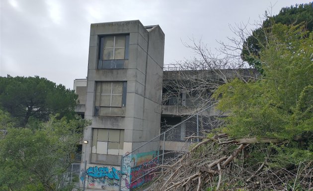
[[124, 68], [128, 60], [129, 35], [100, 38], [98, 69]]

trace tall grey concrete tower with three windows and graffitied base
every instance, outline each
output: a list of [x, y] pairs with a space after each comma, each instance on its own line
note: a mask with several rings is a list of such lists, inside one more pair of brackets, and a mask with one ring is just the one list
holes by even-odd
[[[122, 156], [159, 134], [163, 57], [164, 33], [158, 25], [139, 20], [91, 24], [87, 78], [74, 82], [77, 112], [92, 121], [83, 134], [81, 156], [87, 189], [119, 190]], [[158, 144], [150, 143], [138, 152], [155, 150]], [[129, 176], [124, 179], [129, 182]]]

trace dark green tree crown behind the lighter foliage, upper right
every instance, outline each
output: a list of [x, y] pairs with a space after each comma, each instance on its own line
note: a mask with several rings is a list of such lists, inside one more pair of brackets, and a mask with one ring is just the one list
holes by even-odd
[[244, 61], [248, 62], [250, 66], [257, 68], [261, 71], [261, 49], [267, 43], [267, 35], [275, 23], [286, 25], [297, 25], [304, 23], [307, 30], [313, 30], [313, 3], [296, 4], [295, 6], [284, 7], [280, 10], [279, 14], [274, 16], [265, 15], [267, 18], [263, 21], [262, 25], [253, 30], [242, 45], [241, 57]]

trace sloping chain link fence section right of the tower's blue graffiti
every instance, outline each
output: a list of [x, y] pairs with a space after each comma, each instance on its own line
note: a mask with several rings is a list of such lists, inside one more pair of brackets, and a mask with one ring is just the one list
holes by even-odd
[[[221, 124], [220, 115], [209, 115], [205, 109], [176, 125], [163, 125], [160, 135], [123, 156], [120, 191], [149, 188], [158, 172], [179, 160], [192, 144], [201, 141], [206, 133]], [[149, 150], [151, 144], [158, 144], [159, 149]]]

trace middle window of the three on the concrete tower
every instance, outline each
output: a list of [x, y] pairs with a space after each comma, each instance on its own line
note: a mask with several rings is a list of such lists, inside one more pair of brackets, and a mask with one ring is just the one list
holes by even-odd
[[96, 82], [94, 115], [124, 115], [127, 82]]

